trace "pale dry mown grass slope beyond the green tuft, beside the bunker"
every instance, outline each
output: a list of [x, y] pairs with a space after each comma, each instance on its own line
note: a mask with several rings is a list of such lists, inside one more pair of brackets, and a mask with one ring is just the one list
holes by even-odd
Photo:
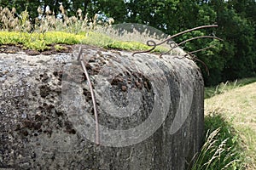
[[219, 114], [241, 136], [248, 169], [256, 169], [256, 82], [205, 100], [205, 114]]

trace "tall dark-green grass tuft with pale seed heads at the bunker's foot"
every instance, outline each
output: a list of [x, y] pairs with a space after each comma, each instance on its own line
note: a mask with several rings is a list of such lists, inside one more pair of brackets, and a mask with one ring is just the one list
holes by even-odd
[[206, 140], [192, 170], [242, 169], [245, 156], [231, 122], [220, 115], [205, 118]]

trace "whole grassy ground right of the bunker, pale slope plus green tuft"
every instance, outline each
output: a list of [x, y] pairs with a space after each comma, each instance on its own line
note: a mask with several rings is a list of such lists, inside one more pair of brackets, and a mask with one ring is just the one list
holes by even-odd
[[218, 87], [205, 99], [208, 135], [194, 169], [256, 169], [255, 78]]

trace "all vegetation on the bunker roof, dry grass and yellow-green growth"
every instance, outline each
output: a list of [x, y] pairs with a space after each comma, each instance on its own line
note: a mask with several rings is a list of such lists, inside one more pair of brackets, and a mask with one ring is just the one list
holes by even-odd
[[[80, 43], [103, 48], [144, 51], [151, 48], [145, 44], [148, 40], [160, 42], [167, 37], [163, 32], [150, 26], [136, 24], [113, 26], [113, 18], [102, 20], [96, 14], [94, 19], [90, 20], [87, 15], [82, 15], [81, 9], [77, 11], [77, 16], [68, 17], [62, 5], [60, 10], [61, 14], [55, 17], [50, 10], [43, 15], [42, 9], [38, 8], [39, 17], [35, 19], [35, 24], [32, 24], [26, 10], [17, 17], [15, 8], [0, 7], [0, 46], [21, 44], [24, 48], [44, 51], [49, 49], [50, 44]], [[47, 37], [48, 34], [51, 34], [50, 38]], [[163, 53], [169, 48], [168, 44], [163, 44], [155, 48], [154, 52]], [[171, 54], [181, 55], [184, 52], [181, 48], [174, 48]]]

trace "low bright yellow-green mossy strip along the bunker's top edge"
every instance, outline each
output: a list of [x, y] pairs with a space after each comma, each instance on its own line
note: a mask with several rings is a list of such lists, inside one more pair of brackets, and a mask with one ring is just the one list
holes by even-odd
[[[21, 44], [24, 48], [44, 51], [49, 49], [50, 44], [89, 44], [102, 48], [115, 48], [123, 50], [148, 50], [148, 47], [141, 42], [123, 42], [114, 40], [107, 35], [97, 32], [83, 32], [79, 34], [63, 31], [48, 31], [44, 33], [9, 32], [0, 31], [0, 44]], [[157, 47], [154, 52], [164, 52], [166, 48]]]

